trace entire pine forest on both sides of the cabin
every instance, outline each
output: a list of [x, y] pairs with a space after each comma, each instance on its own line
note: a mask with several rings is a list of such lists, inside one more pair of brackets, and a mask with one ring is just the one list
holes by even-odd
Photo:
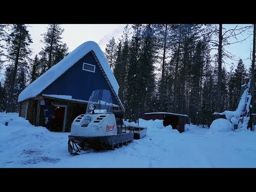
[[[253, 29], [249, 34], [253, 50], [247, 70], [242, 59], [226, 63], [225, 58], [234, 59], [226, 47], [244, 41], [236, 37], [249, 29]], [[0, 25], [0, 66], [7, 65], [5, 80], [0, 82], [0, 111], [18, 112], [19, 93], [66, 57], [63, 30], [61, 25], [48, 25], [42, 34], [44, 47], [31, 59], [28, 27]], [[249, 78], [253, 85], [250, 110], [255, 113], [255, 25], [232, 29], [221, 24], [126, 25], [118, 41], [109, 40], [105, 55], [129, 121], [165, 111], [186, 114], [193, 124], [209, 126], [214, 112], [236, 109], [241, 85]]]

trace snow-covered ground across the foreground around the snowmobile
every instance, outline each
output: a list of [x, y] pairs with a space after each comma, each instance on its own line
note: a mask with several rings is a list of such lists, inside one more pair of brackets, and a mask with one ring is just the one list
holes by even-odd
[[161, 126], [160, 120], [140, 119], [140, 123], [150, 125], [140, 140], [73, 156], [68, 153], [70, 133], [35, 127], [17, 113], [0, 113], [0, 167], [256, 167], [255, 131], [186, 125], [186, 131], [179, 133]]

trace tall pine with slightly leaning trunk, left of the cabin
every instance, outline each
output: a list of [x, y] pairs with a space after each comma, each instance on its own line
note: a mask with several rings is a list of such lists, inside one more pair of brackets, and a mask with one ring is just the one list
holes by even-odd
[[[15, 80], [17, 77], [18, 67], [25, 68], [26, 60], [29, 59], [31, 50], [29, 49], [30, 43], [33, 43], [30, 37], [30, 34], [23, 25], [17, 24], [12, 26], [12, 32], [10, 34], [12, 41], [7, 46], [7, 52], [9, 53], [9, 59], [11, 62], [14, 62], [14, 66], [11, 68], [11, 79], [10, 79], [10, 88], [7, 92], [8, 100], [6, 106], [6, 113], [9, 113], [14, 110], [15, 102], [13, 101], [13, 94]], [[6, 88], [7, 89], [7, 88]]]

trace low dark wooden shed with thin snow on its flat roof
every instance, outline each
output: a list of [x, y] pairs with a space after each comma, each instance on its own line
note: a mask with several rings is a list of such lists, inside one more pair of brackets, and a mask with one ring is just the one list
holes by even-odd
[[164, 126], [172, 125], [172, 129], [177, 129], [180, 133], [185, 131], [185, 124], [188, 123], [187, 115], [166, 112], [145, 113], [143, 119], [163, 119]]

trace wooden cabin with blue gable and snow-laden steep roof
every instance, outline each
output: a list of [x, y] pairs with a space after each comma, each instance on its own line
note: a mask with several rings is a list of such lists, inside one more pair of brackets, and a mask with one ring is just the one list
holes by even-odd
[[118, 83], [99, 45], [89, 41], [24, 89], [18, 98], [19, 116], [35, 126], [45, 126], [45, 101], [53, 102], [52, 131], [70, 132], [74, 119], [84, 114], [94, 90], [109, 90], [116, 110], [124, 110]]

